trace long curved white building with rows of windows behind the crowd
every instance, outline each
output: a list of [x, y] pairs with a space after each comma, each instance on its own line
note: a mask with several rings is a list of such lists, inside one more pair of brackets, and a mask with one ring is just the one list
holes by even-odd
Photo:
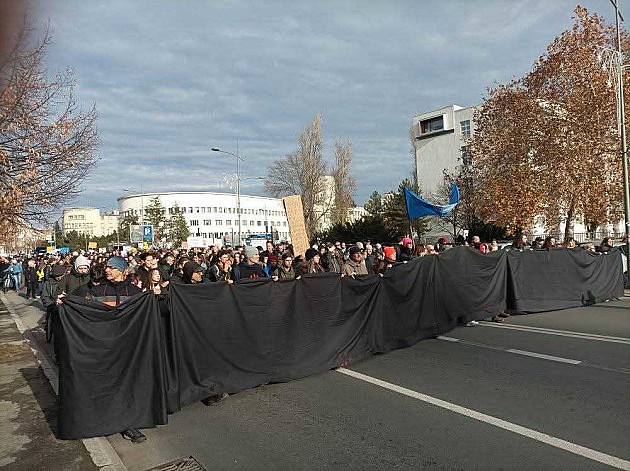
[[[169, 219], [176, 211], [183, 213], [193, 237], [204, 245], [238, 242], [239, 217], [234, 193], [202, 191], [144, 193], [118, 198], [121, 217], [138, 216], [142, 224], [144, 209], [159, 198]], [[241, 240], [271, 234], [276, 240], [290, 240], [289, 225], [281, 199], [240, 195]], [[260, 237], [256, 237], [259, 239]]]

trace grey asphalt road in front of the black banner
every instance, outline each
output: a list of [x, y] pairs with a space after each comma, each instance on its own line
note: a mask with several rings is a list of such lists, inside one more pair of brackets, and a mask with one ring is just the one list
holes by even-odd
[[458, 328], [348, 370], [190, 405], [144, 444], [109, 440], [129, 469], [189, 455], [212, 470], [630, 469], [630, 298]]

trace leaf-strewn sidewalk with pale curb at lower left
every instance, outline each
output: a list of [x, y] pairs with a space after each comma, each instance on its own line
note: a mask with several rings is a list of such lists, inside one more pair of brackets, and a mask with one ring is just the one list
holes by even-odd
[[0, 468], [125, 469], [105, 438], [55, 438], [58, 380], [43, 313], [38, 299], [0, 293]]

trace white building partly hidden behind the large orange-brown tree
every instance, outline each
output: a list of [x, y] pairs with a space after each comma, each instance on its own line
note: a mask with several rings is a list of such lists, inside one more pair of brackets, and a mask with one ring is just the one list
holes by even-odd
[[[444, 185], [444, 171], [452, 172], [456, 167], [469, 163], [466, 140], [475, 132], [474, 113], [479, 106], [463, 108], [459, 105], [449, 105], [419, 113], [412, 118], [411, 141], [415, 151], [418, 184], [423, 195], [438, 194], [439, 188]], [[528, 232], [533, 237], [549, 234], [545, 222], [543, 216], [535, 217]], [[557, 230], [551, 232], [556, 237], [563, 238], [564, 228], [565, 222], [562, 222]], [[582, 242], [587, 238], [600, 239], [607, 235], [623, 233], [624, 224], [623, 221], [608, 224], [588, 234], [584, 218], [578, 215], [573, 231], [576, 240]], [[435, 238], [445, 233], [446, 228], [441, 224], [441, 220], [432, 218], [432, 229], [426, 236]]]

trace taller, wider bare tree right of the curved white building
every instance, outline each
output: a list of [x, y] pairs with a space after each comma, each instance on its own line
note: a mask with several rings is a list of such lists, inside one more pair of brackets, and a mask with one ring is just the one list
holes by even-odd
[[309, 237], [330, 211], [326, 198], [326, 163], [322, 155], [322, 118], [315, 115], [302, 131], [297, 151], [274, 161], [265, 179], [265, 190], [274, 197], [300, 195]]

